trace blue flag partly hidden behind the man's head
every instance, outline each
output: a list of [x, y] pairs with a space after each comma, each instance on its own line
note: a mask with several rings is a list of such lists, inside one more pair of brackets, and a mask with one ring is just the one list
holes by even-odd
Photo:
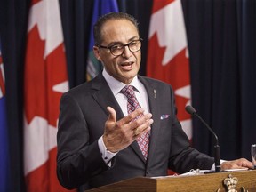
[[92, 26], [90, 32], [90, 44], [89, 52], [87, 58], [87, 67], [86, 67], [86, 79], [87, 81], [91, 80], [93, 77], [97, 76], [100, 70], [102, 69], [102, 64], [99, 60], [94, 57], [93, 54], [93, 25], [98, 20], [101, 15], [107, 14], [108, 12], [118, 12], [118, 6], [116, 0], [95, 0], [93, 4], [93, 15], [92, 15]]

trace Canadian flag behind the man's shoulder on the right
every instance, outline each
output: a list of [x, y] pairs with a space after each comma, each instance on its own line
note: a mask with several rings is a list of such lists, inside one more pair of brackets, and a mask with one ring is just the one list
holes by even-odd
[[148, 39], [147, 76], [172, 84], [180, 124], [191, 140], [191, 117], [185, 112], [191, 100], [188, 47], [180, 0], [154, 0]]

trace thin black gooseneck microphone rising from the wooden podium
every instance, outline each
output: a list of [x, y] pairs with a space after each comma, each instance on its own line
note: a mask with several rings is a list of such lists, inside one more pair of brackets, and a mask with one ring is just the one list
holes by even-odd
[[207, 129], [212, 132], [215, 138], [215, 146], [214, 146], [214, 161], [215, 161], [215, 172], [220, 172], [220, 146], [219, 146], [219, 140], [215, 132], [212, 131], [211, 127], [205, 123], [204, 119], [201, 116], [198, 116], [196, 113], [196, 109], [193, 108], [192, 106], [186, 106], [186, 111], [188, 114], [191, 116], [196, 116], [206, 127]]

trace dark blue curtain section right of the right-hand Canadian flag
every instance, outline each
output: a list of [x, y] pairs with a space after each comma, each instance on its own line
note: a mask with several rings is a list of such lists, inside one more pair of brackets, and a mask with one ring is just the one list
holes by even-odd
[[[192, 104], [220, 140], [221, 157], [251, 159], [256, 142], [256, 1], [183, 1]], [[253, 35], [254, 34], [254, 35]], [[213, 155], [213, 138], [197, 119], [193, 144]]]

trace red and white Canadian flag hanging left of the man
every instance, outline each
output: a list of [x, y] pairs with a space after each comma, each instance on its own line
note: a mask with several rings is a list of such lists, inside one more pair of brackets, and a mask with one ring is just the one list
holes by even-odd
[[60, 192], [56, 174], [60, 97], [68, 91], [58, 0], [32, 0], [24, 69], [24, 173], [27, 191]]

